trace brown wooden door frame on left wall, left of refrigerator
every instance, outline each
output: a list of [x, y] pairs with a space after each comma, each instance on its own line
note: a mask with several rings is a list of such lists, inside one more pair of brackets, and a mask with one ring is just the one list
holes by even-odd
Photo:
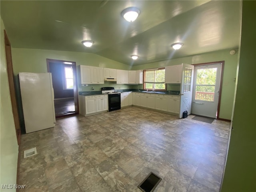
[[7, 68], [8, 82], [9, 82], [10, 98], [12, 103], [12, 113], [14, 118], [15, 132], [16, 132], [18, 145], [20, 145], [21, 131], [20, 131], [20, 120], [19, 120], [17, 100], [16, 100], [15, 87], [14, 87], [12, 50], [11, 50], [10, 40], [6, 34], [6, 30], [4, 30], [4, 46], [5, 46], [6, 68]]

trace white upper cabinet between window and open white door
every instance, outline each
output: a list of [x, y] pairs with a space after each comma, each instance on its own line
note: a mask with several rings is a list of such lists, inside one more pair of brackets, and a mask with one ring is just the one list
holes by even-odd
[[165, 83], [181, 83], [182, 65], [165, 67]]

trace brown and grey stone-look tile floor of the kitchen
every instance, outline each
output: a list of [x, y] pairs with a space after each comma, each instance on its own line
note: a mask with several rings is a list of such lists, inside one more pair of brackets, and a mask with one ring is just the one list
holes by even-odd
[[[26, 192], [140, 192], [150, 171], [155, 192], [218, 192], [229, 122], [212, 124], [128, 107], [58, 119], [22, 135], [18, 184]], [[38, 154], [23, 158], [24, 150]]]

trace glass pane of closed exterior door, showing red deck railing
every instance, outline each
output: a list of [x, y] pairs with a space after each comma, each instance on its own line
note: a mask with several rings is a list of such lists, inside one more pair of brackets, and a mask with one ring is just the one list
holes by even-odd
[[217, 68], [196, 71], [195, 100], [214, 102]]

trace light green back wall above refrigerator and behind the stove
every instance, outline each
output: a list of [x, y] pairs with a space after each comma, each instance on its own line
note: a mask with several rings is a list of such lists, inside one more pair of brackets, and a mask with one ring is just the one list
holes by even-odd
[[[44, 73], [47, 72], [46, 58], [56, 60], [66, 60], [76, 62], [76, 65], [88, 65], [105, 68], [116, 68], [130, 70], [131, 66], [116, 62], [114, 60], [98, 56], [92, 53], [55, 51], [55, 50], [38, 50], [38, 49], [22, 49], [12, 48], [12, 60], [14, 76], [19, 72]], [[116, 89], [129, 88], [128, 85], [116, 84], [114, 82], [105, 82], [105, 84], [94, 84], [88, 87], [82, 87], [78, 84], [78, 91], [100, 90], [101, 87], [113, 86]]]

